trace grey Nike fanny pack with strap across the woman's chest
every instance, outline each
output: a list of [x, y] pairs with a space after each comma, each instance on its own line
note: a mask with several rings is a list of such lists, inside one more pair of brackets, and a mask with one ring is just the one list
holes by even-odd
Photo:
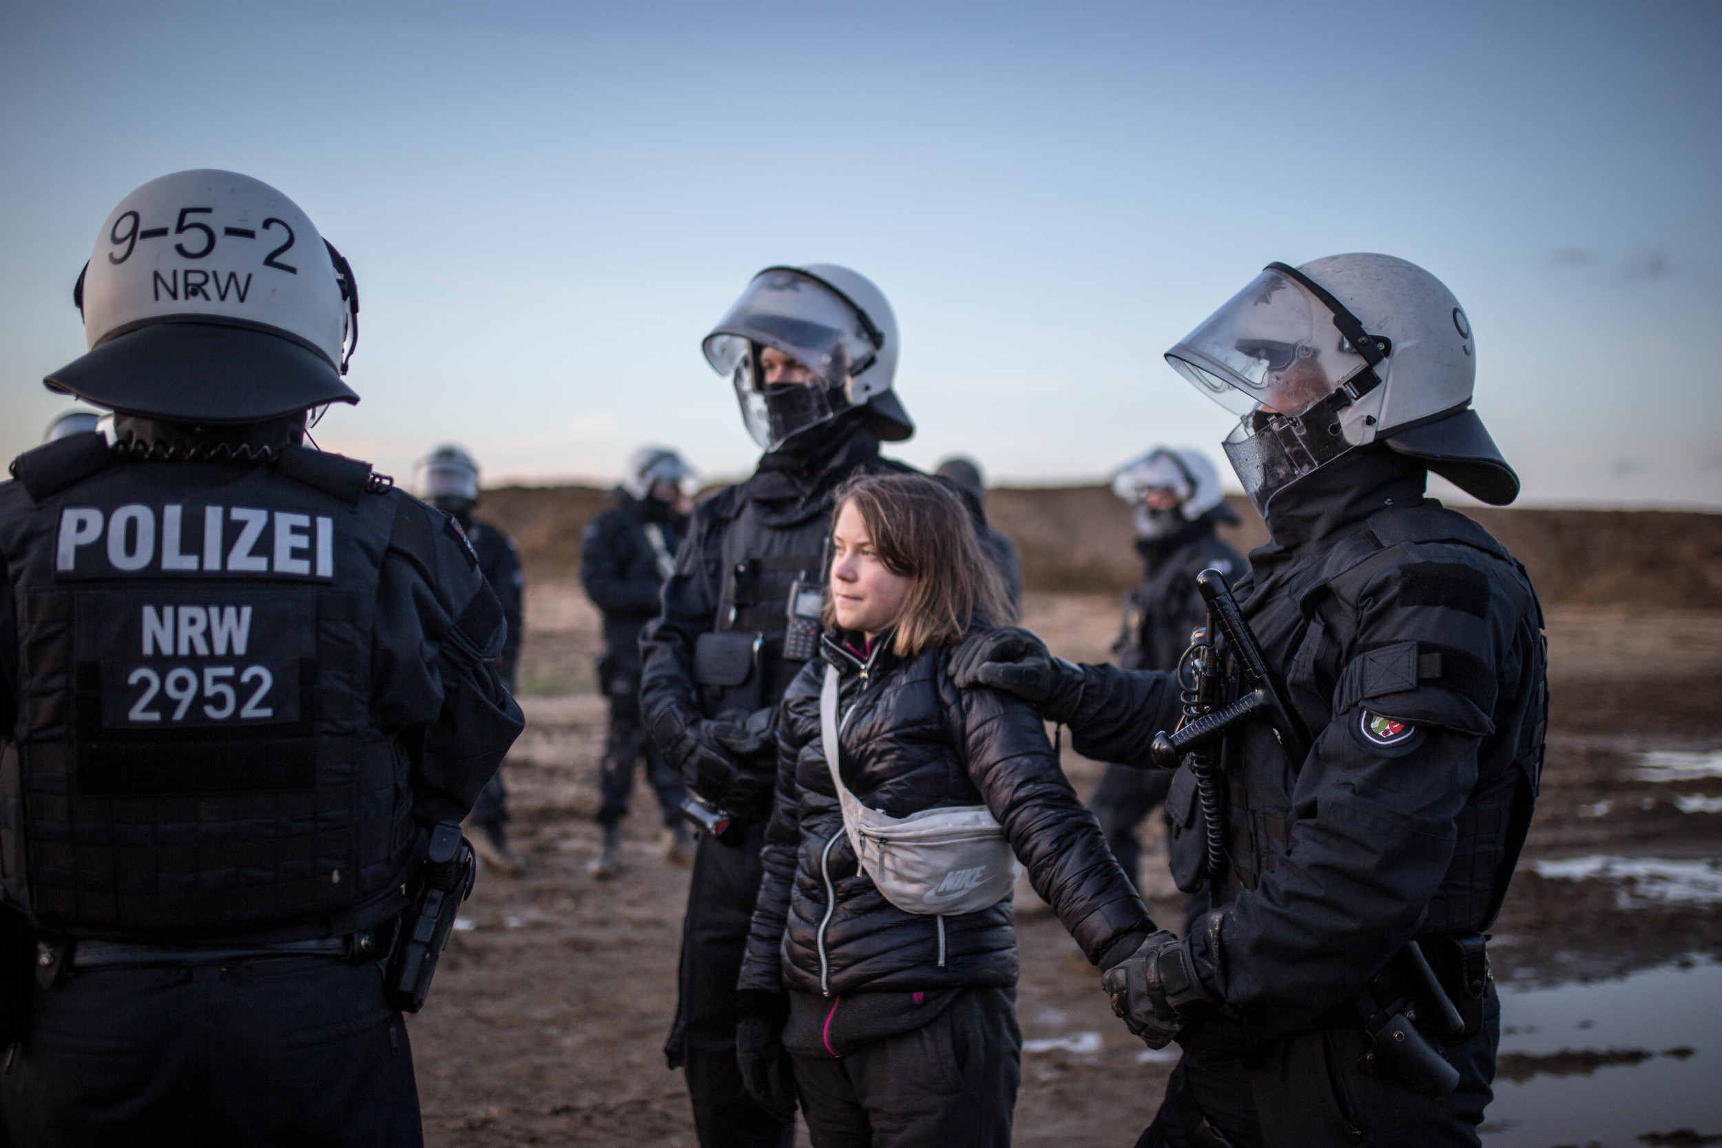
[[956, 917], [1007, 898], [1023, 866], [990, 809], [947, 805], [892, 818], [868, 809], [849, 792], [837, 769], [837, 666], [828, 664], [820, 690], [825, 764], [844, 811], [849, 845], [885, 900], [904, 912]]

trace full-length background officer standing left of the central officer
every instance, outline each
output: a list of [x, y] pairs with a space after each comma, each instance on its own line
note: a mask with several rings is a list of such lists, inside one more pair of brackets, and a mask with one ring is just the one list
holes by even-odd
[[634, 762], [646, 759], [646, 780], [658, 795], [658, 812], [670, 835], [665, 855], [694, 862], [694, 842], [682, 819], [687, 795], [682, 775], [663, 759], [641, 723], [641, 632], [658, 616], [658, 594], [675, 573], [675, 549], [687, 537], [687, 494], [694, 470], [663, 446], [642, 446], [629, 458], [615, 489], [615, 506], [580, 535], [580, 583], [604, 613], [604, 654], [598, 685], [610, 699], [610, 731], [598, 771], [598, 824], [603, 852], [592, 861], [596, 878], [622, 873], [622, 819], [634, 792]]

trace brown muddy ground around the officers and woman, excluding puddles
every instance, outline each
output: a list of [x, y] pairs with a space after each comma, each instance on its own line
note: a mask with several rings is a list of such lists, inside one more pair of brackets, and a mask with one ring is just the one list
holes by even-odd
[[[575, 587], [529, 597], [522, 699], [529, 726], [505, 766], [525, 880], [480, 876], [430, 1005], [412, 1019], [430, 1145], [692, 1145], [682, 1076], [660, 1052], [673, 1010], [687, 869], [661, 854], [644, 787], [627, 821], [627, 873], [598, 883], [592, 694], [596, 616]], [[1099, 661], [1114, 599], [1031, 594], [1025, 621], [1068, 657]], [[1722, 776], [1646, 781], [1646, 750], [1722, 749], [1722, 611], [1564, 606], [1550, 611], [1555, 718], [1538, 819], [1496, 926], [1502, 979], [1617, 974], [1679, 955], [1722, 955], [1722, 905], [1658, 900], [1632, 880], [1539, 878], [1536, 861], [1584, 855], [1722, 857]], [[1087, 795], [1100, 768], [1066, 750]], [[1701, 769], [1698, 771], [1701, 773]], [[1681, 802], [1717, 812], [1682, 812]], [[1149, 852], [1152, 909], [1176, 921], [1164, 862]], [[1099, 976], [1031, 893], [1018, 898], [1028, 1040], [1078, 1050], [1023, 1057], [1021, 1145], [1130, 1145], [1169, 1064], [1112, 1017]], [[1713, 1002], [1712, 1002], [1713, 1007]], [[1092, 1038], [1097, 1033], [1099, 1048]], [[1703, 1129], [1715, 1133], [1722, 1129]], [[799, 1143], [806, 1143], [802, 1136]]]

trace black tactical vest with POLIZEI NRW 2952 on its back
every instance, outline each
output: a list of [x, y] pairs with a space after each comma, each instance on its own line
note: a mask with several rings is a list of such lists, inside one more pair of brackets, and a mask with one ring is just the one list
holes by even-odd
[[21, 654], [9, 898], [81, 936], [348, 931], [413, 836], [406, 752], [369, 704], [408, 499], [300, 447], [276, 468], [76, 449], [84, 477], [36, 458], [0, 487]]

